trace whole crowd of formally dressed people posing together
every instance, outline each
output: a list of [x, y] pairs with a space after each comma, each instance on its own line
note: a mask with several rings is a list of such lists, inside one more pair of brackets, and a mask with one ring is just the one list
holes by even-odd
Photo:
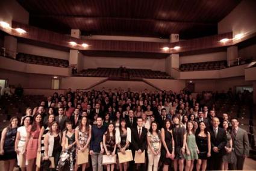
[[[242, 170], [249, 140], [239, 119], [199, 101], [182, 90], [54, 93], [11, 117], [0, 158], [4, 170]], [[130, 150], [133, 160], [120, 163]]]

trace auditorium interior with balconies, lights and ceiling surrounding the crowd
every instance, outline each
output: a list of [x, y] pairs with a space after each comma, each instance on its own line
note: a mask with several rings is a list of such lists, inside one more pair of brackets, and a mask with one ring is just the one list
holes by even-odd
[[0, 1], [0, 132], [55, 92], [189, 92], [239, 118], [256, 170], [255, 16], [254, 0]]

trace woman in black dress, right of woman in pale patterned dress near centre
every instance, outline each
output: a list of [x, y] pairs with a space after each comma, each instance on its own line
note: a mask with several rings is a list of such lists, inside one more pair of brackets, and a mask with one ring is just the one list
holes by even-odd
[[174, 158], [174, 140], [172, 136], [171, 122], [169, 119], [164, 121], [164, 128], [161, 129], [161, 161], [163, 161], [163, 171], [167, 171]]

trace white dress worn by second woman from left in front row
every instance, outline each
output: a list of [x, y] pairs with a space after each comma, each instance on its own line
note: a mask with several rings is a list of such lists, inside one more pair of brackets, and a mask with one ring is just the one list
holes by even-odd
[[[20, 140], [19, 143], [17, 145], [18, 151], [19, 151], [19, 155], [17, 154], [17, 164], [18, 166], [22, 166], [25, 167], [25, 153], [22, 154], [23, 149], [25, 148], [25, 143], [26, 143], [26, 139], [27, 139], [27, 129], [25, 126], [20, 126], [19, 128], [17, 128], [17, 132], [19, 132], [20, 134]], [[22, 158], [22, 163], [20, 163], [20, 159]]]

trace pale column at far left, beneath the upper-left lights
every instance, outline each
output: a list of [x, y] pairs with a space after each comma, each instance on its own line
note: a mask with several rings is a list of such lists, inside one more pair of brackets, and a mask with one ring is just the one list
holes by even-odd
[[16, 58], [17, 39], [13, 36], [4, 36], [4, 51], [5, 55]]

